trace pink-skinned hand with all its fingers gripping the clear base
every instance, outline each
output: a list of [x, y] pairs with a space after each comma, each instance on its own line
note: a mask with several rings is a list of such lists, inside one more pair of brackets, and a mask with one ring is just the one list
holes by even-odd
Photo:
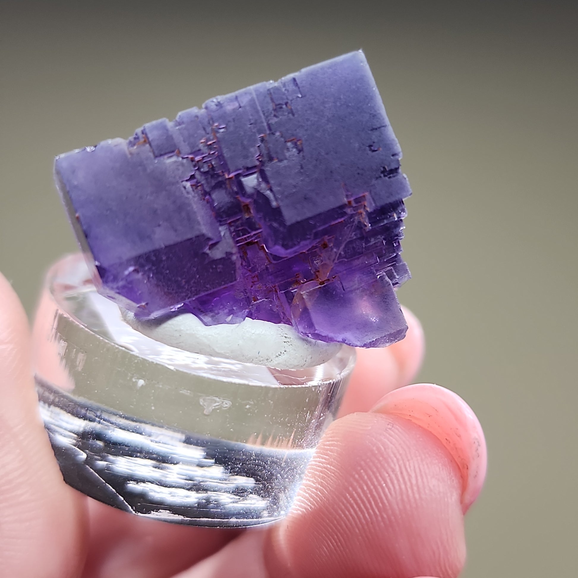
[[[457, 576], [486, 446], [457, 395], [402, 387], [424, 352], [419, 322], [406, 317], [403, 342], [359, 352], [343, 417], [321, 441], [286, 520], [248, 532], [190, 528], [130, 516], [64, 484], [36, 410], [27, 320], [0, 275], [2, 575]], [[38, 326], [45, 321], [40, 310]]]

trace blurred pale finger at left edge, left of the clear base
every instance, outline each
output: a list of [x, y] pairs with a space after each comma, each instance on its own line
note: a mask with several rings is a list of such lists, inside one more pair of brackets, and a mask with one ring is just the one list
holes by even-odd
[[64, 484], [38, 413], [28, 320], [0, 274], [2, 576], [65, 578], [83, 563], [84, 501]]

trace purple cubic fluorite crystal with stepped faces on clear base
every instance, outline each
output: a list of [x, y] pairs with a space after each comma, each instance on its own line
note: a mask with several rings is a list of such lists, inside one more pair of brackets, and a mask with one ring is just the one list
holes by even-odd
[[376, 347], [406, 331], [400, 158], [358, 51], [60, 155], [55, 174], [97, 287], [135, 313]]

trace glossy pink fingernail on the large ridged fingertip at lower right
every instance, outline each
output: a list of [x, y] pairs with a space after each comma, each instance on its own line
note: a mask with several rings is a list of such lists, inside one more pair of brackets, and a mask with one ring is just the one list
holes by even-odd
[[469, 405], [444, 387], [418, 383], [391, 391], [372, 412], [410, 420], [439, 439], [460, 470], [465, 513], [480, 494], [487, 468], [484, 432]]

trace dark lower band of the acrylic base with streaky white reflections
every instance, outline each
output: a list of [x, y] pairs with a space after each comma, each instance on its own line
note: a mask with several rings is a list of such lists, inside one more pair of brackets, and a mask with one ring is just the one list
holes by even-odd
[[279, 450], [136, 421], [38, 382], [66, 483], [148, 518], [235, 527], [279, 520], [312, 449]]

